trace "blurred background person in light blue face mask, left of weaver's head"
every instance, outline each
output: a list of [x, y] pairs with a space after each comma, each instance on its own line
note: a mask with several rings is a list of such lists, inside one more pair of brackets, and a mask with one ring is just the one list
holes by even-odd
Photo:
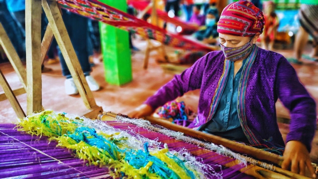
[[195, 33], [196, 39], [206, 44], [216, 44], [218, 37], [218, 10], [210, 9], [205, 19], [205, 26]]

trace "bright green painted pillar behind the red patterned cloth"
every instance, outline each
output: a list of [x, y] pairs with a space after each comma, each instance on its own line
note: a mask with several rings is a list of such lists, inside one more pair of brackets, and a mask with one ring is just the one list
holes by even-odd
[[[118, 10], [127, 12], [126, 0], [99, 0]], [[100, 39], [109, 84], [123, 85], [133, 80], [128, 32], [100, 22]]]

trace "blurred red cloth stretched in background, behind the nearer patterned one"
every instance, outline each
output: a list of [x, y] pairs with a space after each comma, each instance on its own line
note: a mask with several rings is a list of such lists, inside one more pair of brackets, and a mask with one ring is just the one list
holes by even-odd
[[[138, 0], [128, 0], [128, 4], [132, 5], [133, 7], [135, 7], [138, 10], [144, 10], [148, 6], [147, 2], [138, 1]], [[149, 14], [151, 13], [151, 9], [148, 11], [148, 13]], [[199, 28], [199, 26], [197, 26], [197, 25], [192, 25], [190, 23], [183, 22], [178, 17], [170, 18], [168, 16], [167, 12], [164, 12], [164, 11], [161, 11], [158, 9], [157, 9], [157, 14], [158, 14], [158, 17], [161, 18], [162, 20], [170, 22], [176, 26], [180, 26], [180, 27], [182, 27], [183, 30], [197, 31]]]

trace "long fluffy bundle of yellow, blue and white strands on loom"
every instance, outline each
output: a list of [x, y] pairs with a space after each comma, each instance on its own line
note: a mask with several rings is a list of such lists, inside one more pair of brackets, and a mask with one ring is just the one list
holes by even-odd
[[[114, 178], [204, 178], [203, 170], [185, 161], [167, 145], [132, 136], [100, 121], [70, 117], [45, 110], [19, 119], [17, 128], [31, 135], [45, 135], [57, 140], [60, 147], [72, 150], [77, 157], [96, 166], [107, 166]], [[100, 125], [99, 128], [93, 128]], [[102, 130], [100, 130], [102, 129]], [[146, 142], [144, 142], [146, 141]], [[149, 143], [152, 146], [148, 146]]]

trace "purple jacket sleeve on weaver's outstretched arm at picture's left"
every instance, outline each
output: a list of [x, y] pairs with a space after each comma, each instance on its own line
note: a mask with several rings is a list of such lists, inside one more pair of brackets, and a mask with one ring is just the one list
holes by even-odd
[[170, 82], [162, 86], [144, 103], [156, 110], [159, 106], [183, 96], [188, 91], [200, 89], [209, 54], [197, 60], [192, 67], [186, 69], [180, 75], [175, 75]]

